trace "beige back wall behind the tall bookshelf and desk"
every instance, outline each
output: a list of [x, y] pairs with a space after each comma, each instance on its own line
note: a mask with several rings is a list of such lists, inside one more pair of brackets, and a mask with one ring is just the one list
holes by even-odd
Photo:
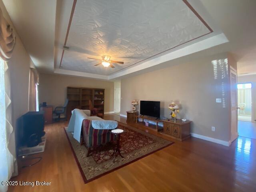
[[39, 75], [39, 102], [62, 106], [68, 86], [105, 89], [104, 112], [114, 111], [114, 82], [56, 74]]

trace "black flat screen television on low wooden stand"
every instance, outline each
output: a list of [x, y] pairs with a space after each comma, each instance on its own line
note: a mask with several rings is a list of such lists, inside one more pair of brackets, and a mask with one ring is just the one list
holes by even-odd
[[160, 101], [140, 101], [140, 114], [160, 118]]

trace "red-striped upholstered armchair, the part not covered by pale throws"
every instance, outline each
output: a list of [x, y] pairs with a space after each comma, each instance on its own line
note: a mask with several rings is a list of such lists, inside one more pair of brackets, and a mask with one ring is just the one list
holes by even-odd
[[116, 140], [116, 136], [110, 133], [109, 129], [94, 129], [91, 120], [84, 119], [82, 123], [82, 143], [88, 149], [87, 157], [92, 148]]

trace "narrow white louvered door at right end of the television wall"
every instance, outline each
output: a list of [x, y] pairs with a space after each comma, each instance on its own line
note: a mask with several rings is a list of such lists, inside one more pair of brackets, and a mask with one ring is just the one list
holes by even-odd
[[238, 137], [238, 106], [237, 106], [237, 72], [230, 67], [230, 105], [231, 105], [231, 122], [230, 122], [230, 141], [234, 141]]

